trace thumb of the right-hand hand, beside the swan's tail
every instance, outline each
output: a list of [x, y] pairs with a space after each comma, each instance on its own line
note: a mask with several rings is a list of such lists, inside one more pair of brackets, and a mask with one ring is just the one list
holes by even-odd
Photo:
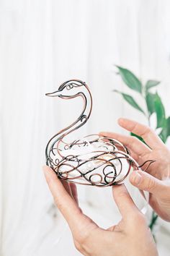
[[138, 189], [160, 194], [165, 188], [164, 183], [144, 171], [133, 171], [130, 175], [130, 183]]

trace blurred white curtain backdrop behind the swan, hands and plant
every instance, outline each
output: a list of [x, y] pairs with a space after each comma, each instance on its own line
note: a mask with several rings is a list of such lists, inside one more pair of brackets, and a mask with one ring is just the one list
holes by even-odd
[[[82, 103], [45, 93], [65, 80], [84, 80], [94, 107], [78, 136], [125, 133], [117, 125], [120, 116], [147, 120], [113, 92], [132, 94], [117, 74], [119, 65], [143, 83], [161, 81], [157, 89], [169, 116], [169, 12], [168, 0], [0, 1], [1, 256], [80, 255], [53, 205], [42, 165], [46, 143], [76, 119]], [[146, 107], [140, 95], [135, 99]], [[81, 208], [99, 225], [120, 220], [110, 188], [78, 189]], [[140, 201], [138, 191], [130, 191]], [[169, 255], [169, 223], [158, 219], [155, 234], [160, 255]]]

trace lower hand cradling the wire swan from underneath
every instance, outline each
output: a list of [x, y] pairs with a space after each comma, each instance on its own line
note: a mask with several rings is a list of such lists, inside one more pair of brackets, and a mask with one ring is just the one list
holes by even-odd
[[[44, 167], [45, 178], [58, 209], [68, 222], [76, 249], [93, 256], [157, 256], [156, 245], [146, 219], [135, 206], [124, 185], [112, 187], [122, 220], [105, 230], [84, 215], [78, 206], [76, 185], [58, 179]], [[138, 229], [136, 227], [138, 226]]]

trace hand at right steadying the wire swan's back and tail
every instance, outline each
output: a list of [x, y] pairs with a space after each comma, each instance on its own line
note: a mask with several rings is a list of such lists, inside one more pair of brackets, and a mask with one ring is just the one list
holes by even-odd
[[129, 119], [119, 119], [118, 123], [129, 132], [143, 138], [101, 132], [100, 135], [120, 140], [130, 149], [133, 158], [142, 165], [145, 161], [155, 160], [146, 171], [133, 171], [130, 182], [138, 189], [150, 192], [149, 203], [158, 216], [170, 221], [170, 152], [161, 139], [149, 127]]

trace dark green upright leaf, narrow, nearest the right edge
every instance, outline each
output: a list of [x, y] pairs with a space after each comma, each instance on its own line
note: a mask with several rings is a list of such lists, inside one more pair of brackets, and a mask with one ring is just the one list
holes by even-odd
[[155, 95], [154, 104], [155, 104], [156, 118], [157, 118], [156, 128], [164, 127], [166, 122], [165, 108], [158, 93], [156, 93]]

